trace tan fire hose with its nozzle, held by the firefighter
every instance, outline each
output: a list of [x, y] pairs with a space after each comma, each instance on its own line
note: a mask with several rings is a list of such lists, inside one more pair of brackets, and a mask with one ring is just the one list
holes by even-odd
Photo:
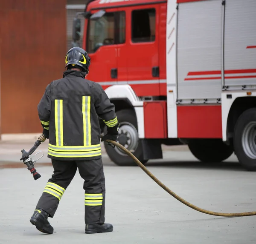
[[[102, 138], [102, 135], [101, 135]], [[45, 137], [44, 135], [40, 135], [40, 137], [38, 138], [38, 141], [36, 141], [35, 145], [32, 147], [32, 149], [29, 150], [29, 152], [26, 152], [24, 149], [22, 150], [23, 152], [23, 158], [21, 158], [20, 160], [23, 159], [23, 163], [26, 164], [28, 166], [28, 169], [30, 170], [30, 172], [33, 174], [34, 179], [38, 179], [41, 176], [36, 172], [35, 167], [34, 167], [34, 163], [35, 161], [31, 160], [31, 158], [29, 157], [29, 155], [35, 151], [35, 149], [41, 144], [41, 142], [45, 141]], [[162, 187], [166, 192], [168, 192], [170, 195], [172, 195], [174, 198], [176, 198], [178, 201], [180, 201], [181, 203], [185, 204], [186, 206], [192, 208], [193, 210], [196, 210], [198, 212], [202, 212], [208, 215], [215, 215], [215, 216], [221, 216], [221, 217], [242, 217], [242, 216], [251, 216], [251, 215], [256, 215], [256, 211], [253, 212], [237, 212], [237, 213], [224, 213], [224, 212], [213, 212], [213, 211], [209, 211], [209, 210], [204, 210], [200, 207], [197, 207], [191, 203], [189, 203], [188, 201], [184, 200], [183, 198], [181, 198], [179, 195], [177, 195], [175, 192], [173, 192], [171, 189], [169, 189], [168, 187], [166, 187], [166, 185], [164, 185], [160, 180], [158, 180], [128, 149], [126, 149], [124, 146], [122, 146], [121, 144], [119, 144], [116, 141], [111, 141], [111, 140], [106, 140], [106, 142], [108, 142], [108, 144], [113, 144], [114, 146], [118, 147], [119, 149], [121, 149], [123, 152], [125, 152], [128, 156], [130, 156], [133, 161], [140, 166], [140, 168], [155, 182], [157, 183], [160, 187]], [[30, 154], [29, 154], [30, 153]], [[35, 174], [36, 172], [36, 174]], [[36, 177], [35, 176], [39, 176]]]

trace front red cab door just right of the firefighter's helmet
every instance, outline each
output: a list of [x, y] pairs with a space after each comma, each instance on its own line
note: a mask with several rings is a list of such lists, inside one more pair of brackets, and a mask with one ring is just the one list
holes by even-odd
[[[87, 21], [86, 50], [91, 58], [87, 78], [99, 82], [105, 89], [117, 83], [117, 45], [119, 44], [118, 9], [106, 9], [98, 20]], [[92, 11], [92, 14], [96, 11]]]

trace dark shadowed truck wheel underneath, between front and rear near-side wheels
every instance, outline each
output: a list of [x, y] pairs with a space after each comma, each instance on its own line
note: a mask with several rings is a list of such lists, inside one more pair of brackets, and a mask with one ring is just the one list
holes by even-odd
[[219, 163], [233, 153], [233, 145], [226, 145], [222, 139], [189, 140], [189, 149], [200, 161], [205, 163]]

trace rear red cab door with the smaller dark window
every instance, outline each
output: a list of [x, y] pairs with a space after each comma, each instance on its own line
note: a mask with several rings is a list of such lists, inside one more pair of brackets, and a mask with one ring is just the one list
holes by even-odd
[[[159, 96], [158, 24], [159, 6], [142, 5], [127, 8], [128, 83], [138, 96]], [[120, 60], [121, 62], [122, 60]]]

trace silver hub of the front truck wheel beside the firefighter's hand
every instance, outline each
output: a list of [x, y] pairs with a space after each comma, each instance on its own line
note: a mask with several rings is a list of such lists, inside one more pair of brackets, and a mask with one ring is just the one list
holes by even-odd
[[[139, 136], [134, 125], [129, 122], [120, 122], [118, 133], [117, 142], [128, 149], [131, 153], [135, 152], [138, 146]], [[127, 156], [127, 154], [118, 147], [115, 147], [115, 150], [120, 155]]]

